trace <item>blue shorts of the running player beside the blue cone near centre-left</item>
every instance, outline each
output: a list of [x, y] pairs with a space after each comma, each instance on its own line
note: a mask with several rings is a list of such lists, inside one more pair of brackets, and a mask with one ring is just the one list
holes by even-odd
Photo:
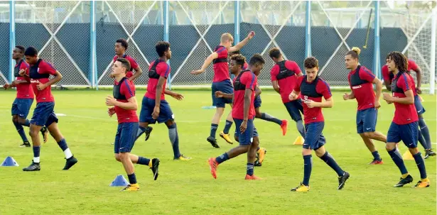
[[119, 123], [115, 135], [114, 153], [130, 153], [134, 148], [139, 123]]

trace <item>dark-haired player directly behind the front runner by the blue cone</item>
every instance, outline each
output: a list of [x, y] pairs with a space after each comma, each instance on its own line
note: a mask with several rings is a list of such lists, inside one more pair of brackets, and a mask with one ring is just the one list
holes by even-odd
[[167, 64], [167, 60], [171, 58], [170, 43], [160, 41], [156, 43], [155, 48], [159, 57], [151, 62], [149, 66], [149, 84], [147, 84], [147, 92], [143, 97], [141, 105], [139, 129], [136, 133], [136, 138], [139, 138], [139, 136], [146, 132], [149, 124], [154, 124], [156, 121], [158, 123], [166, 123], [168, 137], [173, 146], [173, 160], [190, 160], [190, 157], [183, 156], [179, 151], [178, 128], [176, 127], [170, 105], [164, 97], [164, 92], [166, 92], [175, 99], [183, 99], [181, 94], [166, 90], [167, 77], [171, 72], [170, 65]]

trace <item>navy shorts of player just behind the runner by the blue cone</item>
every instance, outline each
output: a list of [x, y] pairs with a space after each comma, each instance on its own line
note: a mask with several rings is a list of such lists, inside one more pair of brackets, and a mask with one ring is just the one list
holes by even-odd
[[170, 105], [166, 100], [161, 100], [159, 116], [156, 120], [152, 118], [153, 109], [155, 109], [155, 99], [143, 97], [141, 112], [139, 114], [139, 121], [141, 123], [154, 124], [156, 123], [156, 121], [158, 121], [158, 123], [164, 123], [169, 120], [174, 120], [175, 118], [173, 112], [171, 111]]

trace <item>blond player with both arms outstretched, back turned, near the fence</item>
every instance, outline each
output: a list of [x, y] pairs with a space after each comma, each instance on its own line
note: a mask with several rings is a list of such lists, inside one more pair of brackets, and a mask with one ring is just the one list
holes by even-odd
[[[249, 35], [247, 35], [247, 38], [244, 38], [244, 40], [239, 42], [237, 45], [231, 46], [234, 42], [234, 38], [232, 37], [232, 35], [230, 33], [222, 34], [222, 37], [220, 38], [220, 45], [217, 45], [214, 53], [206, 58], [205, 62], [202, 65], [202, 68], [200, 70], [191, 71], [191, 74], [193, 75], [202, 74], [203, 72], [205, 72], [206, 68], [210, 65], [211, 62], [214, 63], [214, 77], [212, 79], [211, 87], [212, 105], [216, 106], [217, 109], [215, 109], [215, 115], [212, 117], [210, 136], [208, 136], [206, 139], [208, 142], [211, 143], [212, 147], [220, 148], [220, 146], [217, 144], [217, 140], [215, 139], [215, 133], [217, 131], [218, 123], [220, 122], [223, 112], [225, 111], [225, 104], [232, 104], [232, 99], [215, 97], [216, 91], [224, 92], [226, 94], [232, 94], [233, 92], [232, 82], [229, 75], [229, 67], [227, 65], [227, 53], [233, 53], [237, 50], [240, 50], [241, 48], [243, 48], [244, 45], [249, 42], [249, 40], [252, 40], [254, 35], [255, 33], [251, 31]], [[231, 114], [227, 116], [226, 120], [228, 128], [225, 130], [229, 131], [229, 128], [232, 126]], [[228, 143], [232, 143], [229, 135], [226, 136], [225, 132], [223, 132], [223, 138], [225, 138]]]

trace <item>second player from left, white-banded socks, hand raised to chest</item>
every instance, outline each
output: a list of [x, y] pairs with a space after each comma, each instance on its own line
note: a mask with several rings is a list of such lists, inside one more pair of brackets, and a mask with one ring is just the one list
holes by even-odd
[[[36, 50], [36, 48], [26, 48], [24, 56], [26, 57], [26, 62], [31, 65], [29, 77], [31, 78], [33, 92], [36, 95], [36, 108], [33, 110], [31, 131], [29, 132], [32, 138], [33, 160], [31, 165], [23, 168], [23, 171], [41, 170], [41, 142], [38, 133], [43, 126], [48, 128], [50, 135], [56, 140], [65, 154], [65, 159], [67, 160], [63, 170], [69, 170], [70, 167], [77, 163], [77, 159], [72, 155], [70, 148], [68, 148], [67, 141], [58, 128], [58, 118], [53, 111], [55, 108], [55, 98], [51, 90], [51, 85], [59, 82], [60, 79], [63, 78], [63, 75], [50, 65], [49, 62], [38, 57], [38, 50]], [[25, 72], [22, 71], [20, 75], [24, 76]], [[53, 79], [49, 79], [50, 75], [53, 75]]]

